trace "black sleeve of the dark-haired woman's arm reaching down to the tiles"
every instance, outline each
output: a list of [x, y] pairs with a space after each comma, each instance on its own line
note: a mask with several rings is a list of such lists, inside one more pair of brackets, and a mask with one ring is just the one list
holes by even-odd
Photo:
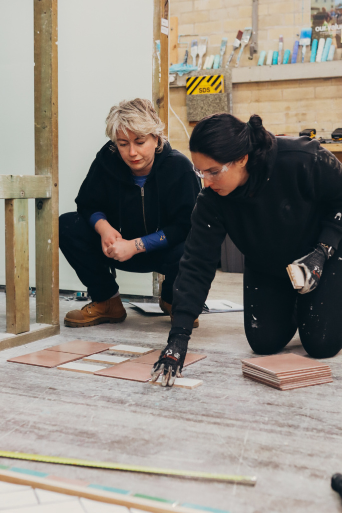
[[211, 282], [215, 277], [221, 246], [226, 236], [217, 200], [211, 190], [203, 190], [197, 198], [191, 216], [191, 231], [179, 263], [179, 272], [173, 286], [173, 323], [191, 333], [194, 319], [202, 312]]

